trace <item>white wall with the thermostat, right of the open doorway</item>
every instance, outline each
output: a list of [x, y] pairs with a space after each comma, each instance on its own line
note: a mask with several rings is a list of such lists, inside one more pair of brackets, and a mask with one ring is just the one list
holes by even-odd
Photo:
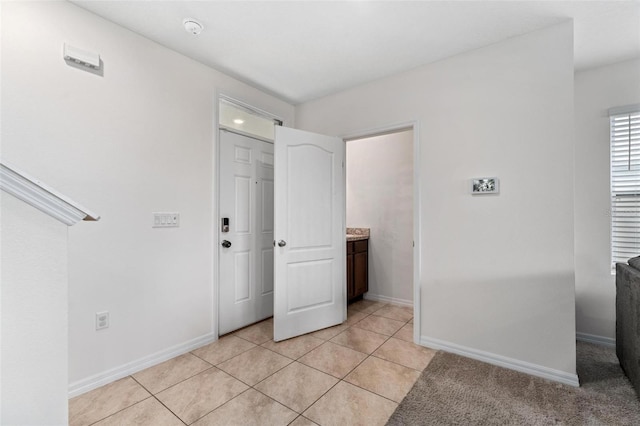
[[422, 342], [575, 383], [572, 23], [296, 108], [330, 135], [412, 120]]

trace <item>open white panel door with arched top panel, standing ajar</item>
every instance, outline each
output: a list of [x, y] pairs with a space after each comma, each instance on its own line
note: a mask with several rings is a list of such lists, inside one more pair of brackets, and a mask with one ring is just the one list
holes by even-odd
[[276, 127], [275, 341], [346, 319], [342, 139]]

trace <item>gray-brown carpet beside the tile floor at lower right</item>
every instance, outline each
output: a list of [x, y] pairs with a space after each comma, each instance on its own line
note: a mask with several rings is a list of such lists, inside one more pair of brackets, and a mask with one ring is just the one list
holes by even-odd
[[578, 342], [580, 388], [438, 352], [388, 425], [640, 425], [615, 350]]

